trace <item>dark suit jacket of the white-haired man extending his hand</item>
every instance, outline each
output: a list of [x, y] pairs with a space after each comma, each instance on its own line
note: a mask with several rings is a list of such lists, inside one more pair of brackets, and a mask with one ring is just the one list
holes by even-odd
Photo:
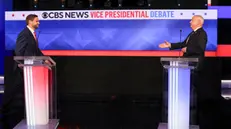
[[207, 33], [203, 28], [192, 32], [193, 34], [188, 37], [183, 42], [172, 43], [170, 50], [179, 49], [187, 47], [186, 53], [184, 53], [184, 57], [204, 57], [204, 52], [207, 44]]

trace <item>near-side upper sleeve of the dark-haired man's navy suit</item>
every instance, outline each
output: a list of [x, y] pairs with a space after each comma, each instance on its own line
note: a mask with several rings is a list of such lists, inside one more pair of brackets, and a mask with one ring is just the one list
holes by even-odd
[[16, 41], [15, 55], [24, 56], [27, 45], [28, 43], [27, 43], [26, 36], [23, 34], [19, 34], [17, 41]]

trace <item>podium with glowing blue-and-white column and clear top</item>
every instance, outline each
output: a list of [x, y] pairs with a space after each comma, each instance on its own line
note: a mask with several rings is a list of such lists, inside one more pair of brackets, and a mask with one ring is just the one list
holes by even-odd
[[167, 129], [190, 129], [190, 74], [198, 58], [161, 58], [168, 71]]

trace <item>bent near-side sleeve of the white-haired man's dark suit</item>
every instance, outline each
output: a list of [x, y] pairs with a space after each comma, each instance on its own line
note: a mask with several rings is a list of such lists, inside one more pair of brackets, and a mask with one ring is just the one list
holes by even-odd
[[200, 33], [197, 42], [195, 43], [195, 47], [187, 48], [187, 53], [189, 54], [200, 54], [205, 51], [207, 43], [207, 34], [206, 32]]

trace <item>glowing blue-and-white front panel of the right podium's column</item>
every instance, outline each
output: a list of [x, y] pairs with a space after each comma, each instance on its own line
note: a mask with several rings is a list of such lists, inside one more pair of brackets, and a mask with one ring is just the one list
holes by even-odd
[[[171, 62], [171, 66], [179, 66]], [[189, 129], [190, 72], [188, 68], [168, 69], [168, 129]]]

